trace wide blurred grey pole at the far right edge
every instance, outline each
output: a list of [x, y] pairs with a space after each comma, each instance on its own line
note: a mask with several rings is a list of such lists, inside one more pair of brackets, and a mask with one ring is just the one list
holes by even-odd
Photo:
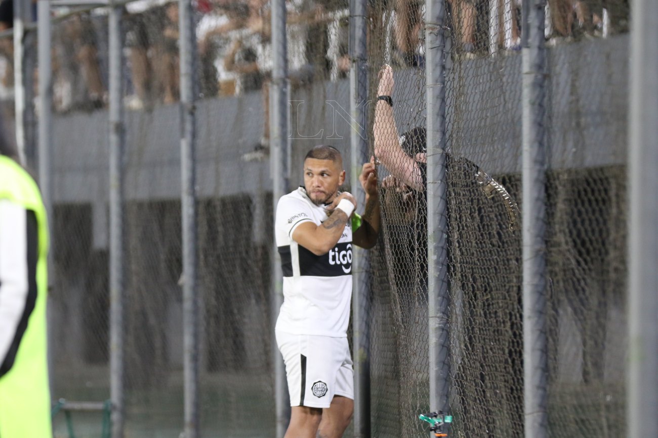
[[658, 3], [635, 0], [631, 13], [626, 436], [649, 437], [658, 430]]

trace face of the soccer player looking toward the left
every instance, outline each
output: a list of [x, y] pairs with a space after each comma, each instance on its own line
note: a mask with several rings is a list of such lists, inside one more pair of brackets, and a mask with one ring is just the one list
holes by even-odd
[[332, 202], [338, 187], [345, 182], [342, 165], [332, 160], [307, 158], [304, 162], [304, 186], [316, 206]]

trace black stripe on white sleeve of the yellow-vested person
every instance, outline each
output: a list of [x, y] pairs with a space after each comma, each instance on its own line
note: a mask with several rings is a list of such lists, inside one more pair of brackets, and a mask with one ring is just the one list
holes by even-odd
[[25, 334], [25, 330], [28, 328], [28, 320], [32, 311], [34, 310], [34, 305], [37, 301], [37, 261], [39, 258], [39, 232], [37, 225], [37, 218], [34, 214], [34, 211], [27, 211], [27, 235], [28, 235], [28, 248], [27, 248], [27, 262], [28, 262], [28, 296], [25, 301], [25, 308], [23, 309], [23, 315], [20, 317], [18, 326], [16, 327], [16, 334], [14, 334], [14, 339], [9, 345], [9, 350], [7, 351], [7, 356], [5, 361], [0, 364], [0, 377], [4, 376], [11, 370], [11, 367], [16, 360], [16, 354], [18, 353], [18, 347], [20, 346], [20, 341]]

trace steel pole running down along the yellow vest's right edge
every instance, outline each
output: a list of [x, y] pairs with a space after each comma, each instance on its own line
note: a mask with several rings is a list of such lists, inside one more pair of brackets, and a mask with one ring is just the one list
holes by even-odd
[[[51, 68], [51, 21], [50, 21], [50, 0], [40, 0], [38, 5], [38, 60], [39, 60], [39, 188], [41, 188], [41, 198], [43, 206], [48, 215], [48, 227], [52, 236], [53, 221], [53, 164], [51, 162], [51, 152], [53, 150], [53, 123], [51, 105], [53, 102], [53, 74]], [[48, 290], [53, 290], [55, 280], [53, 263], [53, 242], [51, 239], [50, 251], [48, 252]], [[48, 325], [52, 326], [53, 309], [47, 308]], [[50, 382], [53, 382], [53, 334], [54, 330], [48, 330], [48, 374]], [[52, 393], [51, 384], [51, 393]]]

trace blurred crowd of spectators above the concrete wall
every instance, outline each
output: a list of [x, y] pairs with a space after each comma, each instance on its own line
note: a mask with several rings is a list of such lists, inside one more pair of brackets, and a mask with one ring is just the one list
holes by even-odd
[[[36, 2], [36, 0], [35, 0]], [[393, 66], [424, 67], [424, 0], [368, 0], [368, 44]], [[520, 49], [520, 0], [447, 0], [453, 56], [478, 58]], [[0, 31], [13, 24], [13, 0], [0, 0]], [[272, 71], [268, 0], [195, 0], [197, 90], [201, 98], [263, 90]], [[288, 0], [288, 69], [293, 87], [349, 71], [349, 0]], [[557, 44], [628, 30], [628, 0], [549, 0], [546, 37]], [[53, 8], [55, 109], [107, 104], [107, 8]], [[34, 11], [36, 19], [36, 9]], [[178, 100], [178, 1], [137, 0], [124, 9], [126, 106]], [[370, 51], [372, 53], [372, 51]], [[0, 38], [0, 88], [13, 87], [13, 40]], [[2, 93], [0, 93], [1, 97]], [[263, 137], [266, 142], [265, 126]]]

